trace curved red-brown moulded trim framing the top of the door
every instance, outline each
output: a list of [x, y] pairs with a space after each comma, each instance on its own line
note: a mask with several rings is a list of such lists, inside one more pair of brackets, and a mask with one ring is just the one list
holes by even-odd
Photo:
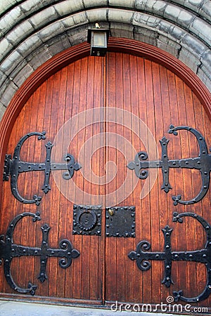
[[[56, 73], [61, 68], [74, 62], [79, 58], [83, 58], [89, 55], [89, 44], [83, 43], [77, 46], [68, 48], [67, 50], [58, 53], [53, 58], [41, 65], [34, 73], [25, 81], [23, 86], [15, 93], [15, 96], [8, 105], [4, 117], [1, 119], [0, 125], [0, 170], [4, 167], [4, 157], [6, 154], [6, 147], [8, 138], [15, 119], [18, 117], [20, 110], [23, 108], [27, 100], [32, 96], [32, 93], [52, 74]], [[132, 39], [119, 39], [116, 37], [110, 37], [108, 41], [108, 51], [116, 51], [122, 53], [129, 53], [132, 55], [138, 55], [155, 62], [160, 63], [167, 67], [175, 74], [178, 75], [186, 84], [196, 93], [200, 102], [205, 107], [205, 111], [211, 120], [211, 95], [205, 85], [198, 79], [196, 74], [192, 72], [183, 62], [174, 58], [170, 53], [162, 51], [155, 46], [142, 43], [140, 41], [134, 41]], [[0, 180], [1, 185], [1, 180]], [[1, 191], [0, 191], [1, 201]]]

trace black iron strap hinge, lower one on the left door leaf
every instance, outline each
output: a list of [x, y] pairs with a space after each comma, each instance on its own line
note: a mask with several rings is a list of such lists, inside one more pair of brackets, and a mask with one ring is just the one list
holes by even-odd
[[37, 285], [29, 282], [28, 288], [23, 289], [15, 284], [11, 275], [11, 261], [13, 258], [20, 256], [40, 256], [40, 272], [38, 279], [41, 282], [44, 282], [45, 279], [47, 279], [46, 263], [49, 257], [61, 258], [59, 261], [60, 268], [68, 268], [72, 263], [72, 258], [77, 258], [79, 256], [79, 251], [72, 249], [72, 244], [68, 239], [63, 239], [60, 241], [60, 249], [49, 248], [48, 235], [50, 227], [47, 224], [44, 224], [41, 227], [42, 242], [40, 248], [13, 244], [13, 232], [15, 230], [15, 225], [17, 225], [17, 223], [25, 216], [32, 216], [33, 222], [40, 220], [39, 212], [36, 214], [26, 212], [16, 216], [8, 226], [6, 237], [4, 237], [4, 235], [0, 236], [0, 258], [4, 260], [4, 275], [10, 287], [19, 293], [34, 295]]

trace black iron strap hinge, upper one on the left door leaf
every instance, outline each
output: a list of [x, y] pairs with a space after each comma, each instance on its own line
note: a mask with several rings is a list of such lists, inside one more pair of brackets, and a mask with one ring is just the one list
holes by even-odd
[[65, 170], [63, 173], [63, 178], [65, 180], [68, 180], [72, 178], [74, 171], [77, 171], [81, 168], [81, 166], [75, 162], [75, 158], [72, 156], [72, 154], [66, 154], [64, 159], [66, 163], [63, 164], [55, 164], [51, 162], [51, 150], [53, 147], [53, 144], [51, 142], [46, 143], [46, 160], [44, 163], [38, 163], [35, 164], [34, 162], [22, 162], [20, 161], [20, 150], [23, 146], [23, 143], [27, 138], [30, 138], [32, 136], [38, 136], [38, 140], [44, 140], [46, 139], [46, 132], [43, 131], [42, 133], [39, 132], [32, 132], [27, 133], [27, 135], [23, 136], [23, 138], [20, 138], [17, 146], [15, 147], [15, 151], [13, 154], [13, 159], [11, 159], [11, 154], [6, 154], [6, 159], [4, 161], [4, 180], [9, 180], [9, 176], [11, 176], [11, 191], [16, 199], [18, 201], [25, 203], [25, 204], [32, 204], [35, 203], [36, 205], [39, 205], [41, 202], [41, 197], [38, 195], [34, 195], [33, 199], [25, 199], [20, 195], [18, 192], [18, 176], [19, 173], [23, 172], [29, 172], [29, 171], [44, 171], [45, 177], [44, 177], [44, 185], [41, 190], [44, 191], [44, 193], [48, 193], [49, 190], [51, 190], [51, 187], [49, 185], [49, 178], [51, 175], [52, 170]]

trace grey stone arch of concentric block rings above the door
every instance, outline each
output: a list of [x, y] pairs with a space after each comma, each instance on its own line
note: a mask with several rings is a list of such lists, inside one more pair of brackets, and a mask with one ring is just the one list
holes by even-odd
[[87, 41], [95, 22], [108, 27], [111, 37], [167, 51], [211, 89], [210, 12], [208, 0], [5, 0], [0, 5], [1, 116], [27, 77], [57, 53]]

